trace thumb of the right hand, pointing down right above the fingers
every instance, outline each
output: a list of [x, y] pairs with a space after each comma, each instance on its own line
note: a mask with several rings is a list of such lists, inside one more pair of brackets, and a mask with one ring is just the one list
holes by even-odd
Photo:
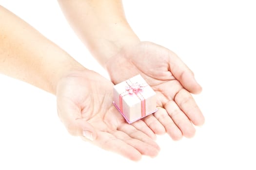
[[200, 93], [202, 87], [197, 83], [194, 73], [172, 51], [169, 52], [169, 70], [175, 78], [191, 93]]

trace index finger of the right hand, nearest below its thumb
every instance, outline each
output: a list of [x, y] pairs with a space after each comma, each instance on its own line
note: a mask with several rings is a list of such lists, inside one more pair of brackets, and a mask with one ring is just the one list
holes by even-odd
[[204, 123], [204, 117], [192, 95], [185, 89], [179, 90], [175, 102], [187, 117], [197, 126]]

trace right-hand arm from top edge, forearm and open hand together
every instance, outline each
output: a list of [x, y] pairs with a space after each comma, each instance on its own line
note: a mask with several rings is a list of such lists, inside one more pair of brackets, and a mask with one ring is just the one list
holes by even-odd
[[114, 84], [141, 74], [157, 92], [158, 112], [135, 127], [145, 123], [146, 134], [167, 132], [174, 140], [195, 135], [194, 125], [202, 125], [204, 117], [191, 95], [201, 92], [194, 73], [173, 51], [141, 42], [125, 18], [121, 0], [59, 0], [59, 4]]

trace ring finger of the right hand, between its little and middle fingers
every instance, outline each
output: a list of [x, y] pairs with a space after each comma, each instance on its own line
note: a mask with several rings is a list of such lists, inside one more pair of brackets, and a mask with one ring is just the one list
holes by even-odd
[[179, 140], [182, 138], [181, 131], [164, 108], [158, 107], [158, 111], [154, 113], [154, 116], [165, 127], [166, 133], [171, 136], [173, 140]]

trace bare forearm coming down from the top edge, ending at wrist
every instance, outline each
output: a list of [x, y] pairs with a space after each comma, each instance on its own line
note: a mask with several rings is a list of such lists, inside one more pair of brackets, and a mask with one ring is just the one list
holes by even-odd
[[59, 4], [103, 67], [122, 47], [139, 41], [125, 18], [121, 0], [59, 0]]

